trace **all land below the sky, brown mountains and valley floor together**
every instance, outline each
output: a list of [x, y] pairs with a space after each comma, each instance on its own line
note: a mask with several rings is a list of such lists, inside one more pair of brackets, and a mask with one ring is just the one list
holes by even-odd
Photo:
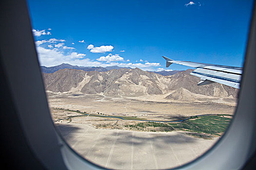
[[197, 86], [190, 72], [62, 69], [43, 76], [52, 119], [77, 153], [104, 168], [141, 170], [196, 159], [232, 120], [237, 90]]

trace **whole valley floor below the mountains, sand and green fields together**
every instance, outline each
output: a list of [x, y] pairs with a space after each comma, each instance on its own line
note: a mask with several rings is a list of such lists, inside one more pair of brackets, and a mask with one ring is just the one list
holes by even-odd
[[[50, 94], [48, 101], [56, 127], [77, 153], [120, 170], [167, 169], [194, 160], [220, 138], [236, 105], [227, 98], [178, 102], [157, 95], [64, 93]], [[187, 120], [171, 122], [181, 119]]]

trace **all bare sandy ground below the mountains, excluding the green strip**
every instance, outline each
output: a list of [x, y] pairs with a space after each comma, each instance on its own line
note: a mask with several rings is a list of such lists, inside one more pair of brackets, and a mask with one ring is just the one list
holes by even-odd
[[[102, 113], [115, 116], [137, 116], [150, 119], [201, 114], [233, 114], [236, 103], [219, 102], [154, 102], [104, 95], [58, 95], [48, 97], [50, 107]], [[143, 170], [167, 169], [196, 159], [211, 148], [219, 137], [202, 139], [185, 135], [184, 131], [138, 132], [125, 129], [97, 129], [95, 124], [117, 123], [117, 119], [75, 117], [72, 121], [59, 120], [77, 113], [51, 110], [53, 120], [67, 143], [84, 158], [110, 169]], [[132, 122], [133, 120], [121, 120]], [[69, 123], [68, 123], [69, 122]]]

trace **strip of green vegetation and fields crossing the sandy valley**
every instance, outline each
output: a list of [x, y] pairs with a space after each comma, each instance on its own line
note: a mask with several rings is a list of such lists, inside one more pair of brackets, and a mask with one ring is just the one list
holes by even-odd
[[[221, 136], [222, 133], [225, 132], [228, 127], [232, 115], [228, 114], [205, 114], [205, 115], [197, 115], [197, 116], [189, 116], [189, 117], [178, 117], [173, 118], [174, 120], [166, 120], [166, 119], [158, 119], [154, 120], [153, 118], [145, 119], [139, 117], [126, 117], [126, 116], [110, 116], [100, 113], [101, 115], [95, 113], [86, 113], [80, 112], [79, 110], [69, 110], [63, 108], [53, 108], [53, 110], [62, 110], [68, 112], [75, 112], [79, 115], [73, 116], [65, 116], [64, 118], [57, 119], [56, 122], [61, 120], [68, 120], [67, 123], [70, 123], [72, 119], [79, 117], [86, 117], [83, 121], [86, 121], [89, 117], [98, 117], [103, 118], [102, 120], [106, 121], [115, 121], [114, 124], [110, 125], [101, 125], [98, 123], [97, 128], [109, 128], [112, 129], [128, 129], [132, 131], [147, 131], [147, 132], [170, 132], [181, 130], [184, 131], [186, 135], [211, 139], [213, 136]], [[102, 121], [98, 120], [98, 121]], [[124, 122], [118, 122], [124, 121]], [[132, 124], [125, 124], [125, 121], [131, 121]], [[97, 122], [97, 121], [96, 121]], [[135, 123], [138, 122], [138, 123]], [[119, 123], [119, 124], [118, 124]], [[135, 124], [134, 124], [135, 123]]]

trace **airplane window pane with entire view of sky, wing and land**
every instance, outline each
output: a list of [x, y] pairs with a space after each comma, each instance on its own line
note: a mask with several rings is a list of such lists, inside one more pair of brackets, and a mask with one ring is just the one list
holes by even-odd
[[253, 0], [28, 7], [52, 119], [85, 159], [108, 169], [175, 168], [232, 122]]

